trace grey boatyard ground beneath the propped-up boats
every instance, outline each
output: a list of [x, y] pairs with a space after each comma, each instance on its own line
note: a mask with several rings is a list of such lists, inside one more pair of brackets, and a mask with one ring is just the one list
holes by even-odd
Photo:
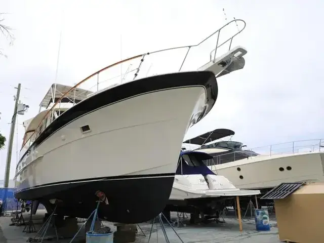
[[[42, 218], [44, 217], [45, 211], [41, 210], [37, 212], [34, 218], [35, 227], [38, 230], [41, 228], [42, 225]], [[28, 215], [26, 214], [24, 216], [25, 220], [28, 220]], [[185, 243], [214, 243], [214, 242], [227, 242], [227, 243], [234, 243], [234, 242], [240, 242], [240, 243], [250, 243], [250, 242], [258, 242], [258, 243], [279, 243], [278, 238], [278, 230], [276, 227], [276, 222], [274, 220], [271, 220], [271, 231], [265, 231], [265, 232], [258, 232], [255, 229], [255, 222], [252, 218], [245, 218], [242, 220], [242, 226], [243, 231], [239, 232], [239, 225], [238, 221], [235, 219], [235, 217], [228, 216], [225, 217], [225, 223], [210, 223], [210, 224], [203, 224], [200, 225], [189, 225], [187, 224], [185, 227], [174, 227], [177, 233], [180, 235], [182, 240]], [[1, 243], [23, 243], [26, 242], [26, 240], [29, 237], [33, 237], [36, 233], [23, 233], [24, 226], [10, 226], [11, 224], [11, 217], [0, 217], [0, 242]], [[105, 222], [109, 227], [111, 227], [112, 230], [114, 230], [114, 226], [112, 224]], [[79, 225], [82, 225], [81, 223]], [[153, 227], [152, 235], [150, 242], [166, 242], [165, 238], [163, 236], [163, 232], [160, 229], [159, 224], [156, 224], [158, 226], [157, 234], [156, 234], [156, 226]], [[149, 231], [151, 228], [151, 224], [149, 223], [143, 223], [140, 224], [140, 227], [146, 234], [146, 236], [138, 235], [136, 236], [137, 243], [140, 242], [147, 242]], [[167, 234], [171, 242], [181, 242], [176, 234], [173, 232], [172, 228], [170, 226], [166, 226]], [[139, 233], [140, 230], [138, 230]], [[83, 235], [85, 232], [82, 232]], [[62, 239], [59, 242], [65, 243], [69, 242], [70, 239]], [[44, 242], [50, 242], [50, 241], [44, 241]], [[52, 242], [57, 242], [56, 239], [53, 239]], [[85, 242], [85, 239], [80, 233], [80, 237], [76, 238], [73, 242]]]

